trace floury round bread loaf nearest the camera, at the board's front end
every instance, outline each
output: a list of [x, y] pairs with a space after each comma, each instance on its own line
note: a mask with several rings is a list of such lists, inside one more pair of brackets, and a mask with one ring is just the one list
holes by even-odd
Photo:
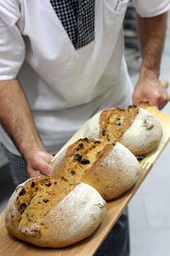
[[88, 184], [40, 176], [16, 188], [7, 204], [5, 226], [20, 240], [59, 248], [90, 236], [105, 212], [105, 201]]

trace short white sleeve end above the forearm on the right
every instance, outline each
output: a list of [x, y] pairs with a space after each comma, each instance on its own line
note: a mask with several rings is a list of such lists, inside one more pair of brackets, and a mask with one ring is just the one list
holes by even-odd
[[133, 2], [141, 17], [156, 16], [170, 9], [170, 0], [133, 0]]

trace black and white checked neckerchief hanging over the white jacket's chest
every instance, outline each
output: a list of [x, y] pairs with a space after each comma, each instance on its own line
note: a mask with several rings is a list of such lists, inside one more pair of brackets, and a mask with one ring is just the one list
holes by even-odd
[[50, 0], [76, 50], [95, 40], [95, 0]]

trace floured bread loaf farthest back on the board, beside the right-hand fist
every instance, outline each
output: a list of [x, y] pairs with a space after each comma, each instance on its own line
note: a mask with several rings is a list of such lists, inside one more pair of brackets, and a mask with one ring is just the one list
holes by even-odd
[[160, 143], [163, 128], [151, 113], [137, 106], [114, 107], [94, 115], [84, 137], [118, 141], [135, 156], [154, 150]]

